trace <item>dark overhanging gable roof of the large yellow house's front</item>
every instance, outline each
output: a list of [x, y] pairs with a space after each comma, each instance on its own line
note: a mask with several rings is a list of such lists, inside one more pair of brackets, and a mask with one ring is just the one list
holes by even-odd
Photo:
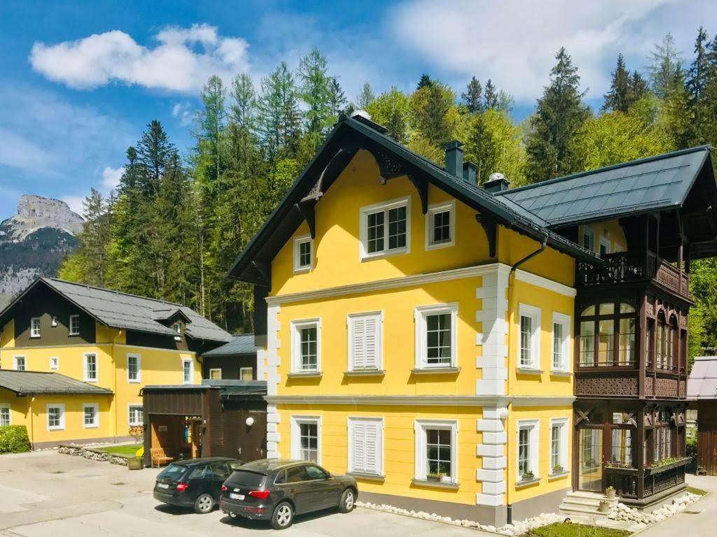
[[[347, 147], [389, 154], [399, 159], [411, 173], [421, 175], [424, 180], [445, 190], [457, 200], [474, 208], [478, 213], [493, 216], [503, 226], [513, 228], [536, 241], [546, 239], [549, 246], [563, 253], [589, 259], [596, 264], [602, 263], [593, 252], [550, 231], [548, 223], [540, 216], [511, 199], [494, 197], [483, 188], [448, 173], [436, 163], [399, 144], [384, 132], [383, 128], [376, 128], [376, 124], [370, 120], [364, 120], [361, 117], [341, 117], [333, 127], [331, 134], [328, 135], [326, 142], [295, 180], [292, 188], [234, 261], [228, 276], [261, 283], [260, 270], [256, 266], [252, 267], [252, 262], [268, 263], [274, 258], [303, 221], [303, 216], [295, 209], [295, 204], [303, 200], [319, 181], [323, 181], [322, 191], [326, 191], [331, 186], [333, 180], [348, 165], [353, 156], [351, 151], [344, 151], [344, 155], [348, 155], [348, 158], [345, 157], [343, 160], [340, 158], [341, 151]], [[333, 173], [328, 173], [332, 166]], [[480, 233], [478, 228], [476, 228], [476, 233]]]

